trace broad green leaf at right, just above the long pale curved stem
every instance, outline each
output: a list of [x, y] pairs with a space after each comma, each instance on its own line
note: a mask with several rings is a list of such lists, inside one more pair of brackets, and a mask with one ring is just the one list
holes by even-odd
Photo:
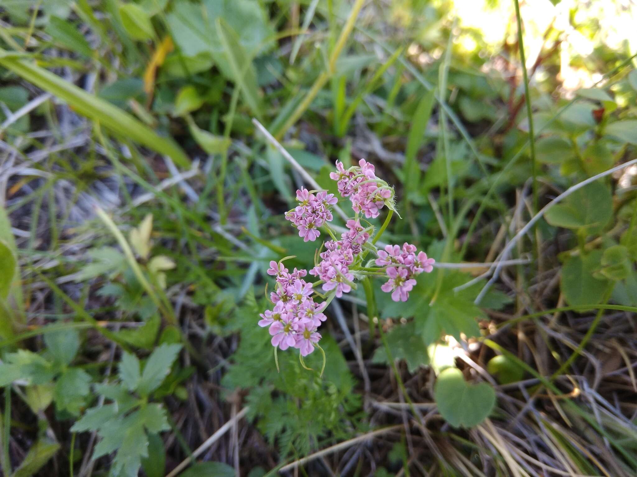
[[587, 233], [601, 231], [613, 215], [613, 197], [607, 186], [599, 182], [587, 184], [573, 192], [561, 204], [548, 209], [545, 218], [550, 225], [582, 228]]

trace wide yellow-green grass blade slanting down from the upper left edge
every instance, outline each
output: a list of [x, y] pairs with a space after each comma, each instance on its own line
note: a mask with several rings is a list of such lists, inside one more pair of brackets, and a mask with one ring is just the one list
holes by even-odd
[[68, 102], [73, 110], [97, 121], [100, 125], [111, 130], [120, 137], [131, 139], [143, 146], [170, 156], [177, 165], [188, 167], [190, 160], [182, 149], [168, 137], [161, 137], [147, 125], [137, 120], [131, 114], [122, 111], [117, 106], [99, 97], [85, 92], [82, 88], [69, 83], [65, 79], [50, 73], [27, 60], [3, 57], [0, 50], [0, 66], [9, 69], [26, 81], [53, 93], [59, 99]]

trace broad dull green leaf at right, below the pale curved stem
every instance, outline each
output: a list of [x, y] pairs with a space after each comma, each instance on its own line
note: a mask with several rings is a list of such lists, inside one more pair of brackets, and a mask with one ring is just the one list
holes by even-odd
[[584, 256], [571, 256], [562, 266], [562, 293], [569, 305], [599, 303], [610, 282], [598, 279], [594, 273], [601, 266], [602, 251], [594, 250]]

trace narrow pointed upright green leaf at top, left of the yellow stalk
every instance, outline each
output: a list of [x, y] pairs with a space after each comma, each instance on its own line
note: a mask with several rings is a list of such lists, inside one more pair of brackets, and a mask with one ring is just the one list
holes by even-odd
[[241, 88], [243, 100], [252, 113], [261, 118], [261, 97], [257, 86], [257, 73], [252, 66], [243, 46], [239, 43], [239, 37], [233, 27], [227, 24], [221, 17], [217, 19], [217, 33], [224, 47], [225, 59], [230, 69], [230, 76]]

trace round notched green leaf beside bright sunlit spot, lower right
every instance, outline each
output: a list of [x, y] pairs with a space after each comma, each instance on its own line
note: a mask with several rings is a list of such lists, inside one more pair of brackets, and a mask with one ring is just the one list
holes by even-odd
[[496, 405], [496, 391], [487, 383], [469, 384], [462, 372], [448, 368], [434, 386], [440, 415], [453, 427], [474, 427], [485, 420]]

